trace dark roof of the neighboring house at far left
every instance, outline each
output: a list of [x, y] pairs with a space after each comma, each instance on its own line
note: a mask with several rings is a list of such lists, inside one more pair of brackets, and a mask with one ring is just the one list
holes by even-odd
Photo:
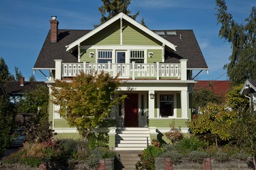
[[42, 84], [47, 86], [44, 82], [24, 82], [24, 86], [20, 86], [20, 82], [5, 82], [3, 87], [7, 94], [23, 94], [31, 89], [34, 89], [37, 85]]

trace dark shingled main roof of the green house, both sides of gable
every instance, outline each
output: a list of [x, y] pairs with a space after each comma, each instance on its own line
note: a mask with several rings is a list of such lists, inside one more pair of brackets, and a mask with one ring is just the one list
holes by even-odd
[[[34, 69], [55, 69], [55, 59], [61, 59], [63, 63], [77, 63], [77, 55], [67, 52], [67, 44], [83, 37], [90, 30], [68, 30], [60, 29], [57, 43], [51, 43], [50, 31], [46, 36], [38, 59], [35, 61]], [[155, 31], [155, 30], [154, 30]], [[208, 69], [203, 54], [193, 30], [167, 30], [176, 31], [177, 35], [162, 36], [167, 41], [177, 45], [176, 51], [165, 52], [165, 63], [180, 63], [179, 60], [188, 59], [188, 69]], [[182, 38], [180, 38], [182, 36]]]

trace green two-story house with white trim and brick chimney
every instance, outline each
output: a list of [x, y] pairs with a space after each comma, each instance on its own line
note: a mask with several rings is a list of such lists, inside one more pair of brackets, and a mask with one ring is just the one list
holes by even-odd
[[[49, 71], [46, 82], [70, 81], [80, 71], [119, 73], [120, 95], [128, 95], [111, 113], [109, 146], [141, 150], [152, 139], [166, 140], [171, 122], [188, 134], [194, 70], [207, 70], [192, 30], [155, 30], [120, 13], [93, 30], [49, 31], [33, 70]], [[51, 96], [51, 98], [53, 98]], [[78, 137], [51, 103], [49, 118], [58, 138]]]

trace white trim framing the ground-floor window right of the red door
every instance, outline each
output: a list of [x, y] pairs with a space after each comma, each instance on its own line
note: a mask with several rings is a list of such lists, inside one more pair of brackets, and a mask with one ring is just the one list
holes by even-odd
[[[173, 95], [173, 116], [161, 117], [160, 116], [160, 95]], [[157, 118], [177, 118], [177, 96], [175, 92], [157, 92]]]

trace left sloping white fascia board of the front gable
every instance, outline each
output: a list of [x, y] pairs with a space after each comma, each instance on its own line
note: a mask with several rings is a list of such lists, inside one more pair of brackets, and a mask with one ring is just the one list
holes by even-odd
[[85, 39], [88, 39], [89, 37], [91, 37], [92, 35], [98, 33], [99, 31], [101, 31], [102, 29], [104, 29], [105, 27], [108, 27], [110, 24], [112, 24], [113, 22], [115, 22], [116, 20], [118, 20], [119, 18], [121, 18], [124, 15], [124, 13], [119, 13], [118, 15], [114, 16], [113, 18], [111, 18], [110, 20], [104, 22], [103, 24], [101, 24], [99, 27], [97, 27], [96, 29], [91, 30], [89, 33], [87, 33], [86, 35], [84, 35], [83, 37], [77, 39], [76, 41], [72, 42], [71, 44], [69, 44], [68, 46], [66, 46], [66, 51], [74, 48], [74, 46], [77, 46], [78, 44], [80, 44], [81, 42], [85, 41]]

